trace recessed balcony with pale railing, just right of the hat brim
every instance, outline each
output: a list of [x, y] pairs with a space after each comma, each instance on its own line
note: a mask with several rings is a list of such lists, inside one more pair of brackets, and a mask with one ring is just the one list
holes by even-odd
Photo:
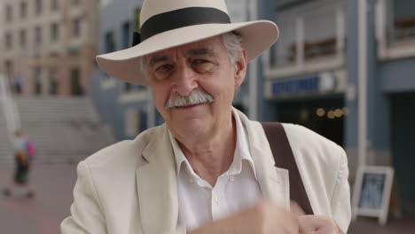
[[265, 56], [265, 76], [276, 79], [341, 68], [345, 54], [342, 1], [317, 1], [278, 13], [280, 38]]

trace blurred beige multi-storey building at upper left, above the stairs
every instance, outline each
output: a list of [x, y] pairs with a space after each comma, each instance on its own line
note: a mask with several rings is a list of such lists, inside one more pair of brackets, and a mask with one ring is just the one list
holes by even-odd
[[0, 69], [13, 91], [83, 95], [95, 72], [98, 0], [2, 0]]

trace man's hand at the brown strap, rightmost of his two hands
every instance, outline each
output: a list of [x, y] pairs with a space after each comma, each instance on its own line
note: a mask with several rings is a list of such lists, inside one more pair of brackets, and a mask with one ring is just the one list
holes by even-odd
[[298, 217], [300, 234], [343, 234], [333, 219], [321, 215], [302, 215]]

